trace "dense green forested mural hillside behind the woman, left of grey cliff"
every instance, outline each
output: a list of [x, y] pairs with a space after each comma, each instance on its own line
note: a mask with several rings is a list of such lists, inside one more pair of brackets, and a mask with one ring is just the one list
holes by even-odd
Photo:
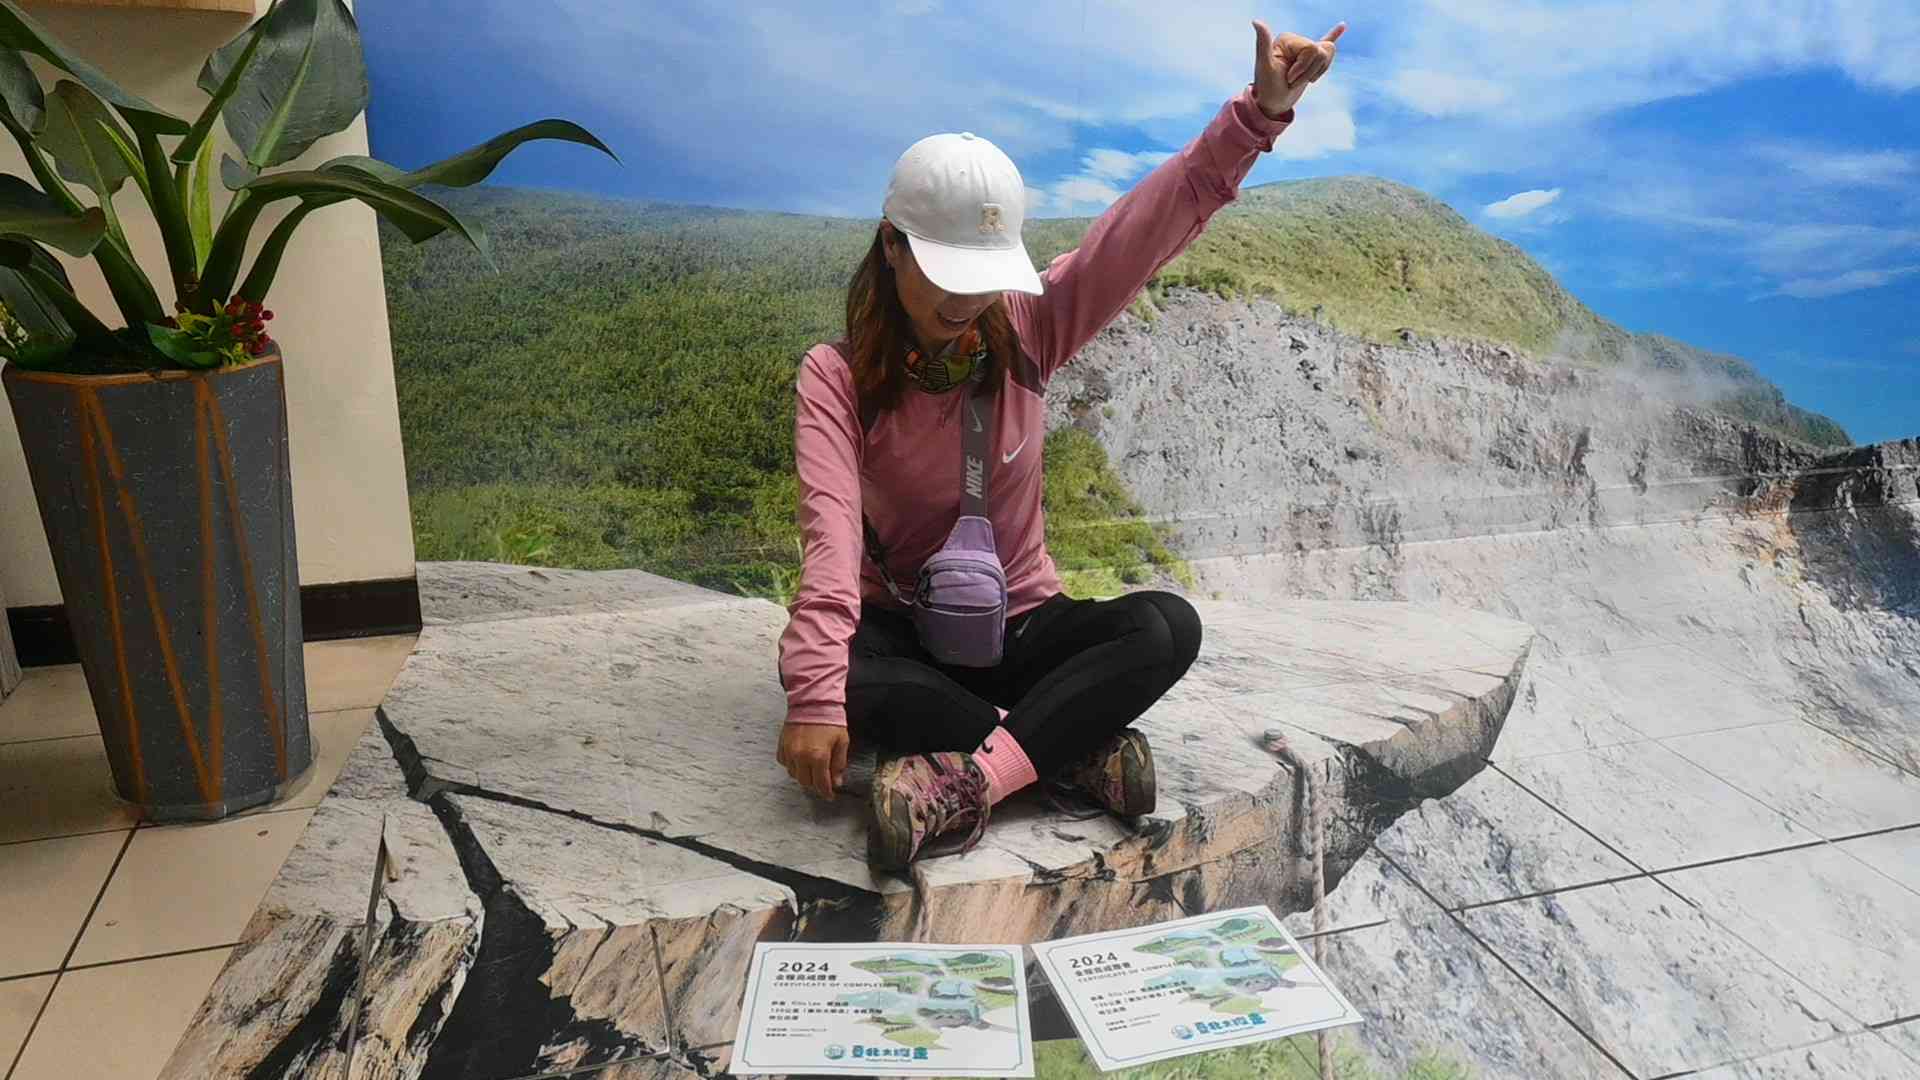
[[[872, 223], [451, 198], [499, 273], [453, 244], [382, 244], [419, 557], [781, 596], [799, 563], [793, 369], [839, 336]], [[1056, 432], [1046, 455], [1073, 588], [1179, 571], [1096, 442]]]

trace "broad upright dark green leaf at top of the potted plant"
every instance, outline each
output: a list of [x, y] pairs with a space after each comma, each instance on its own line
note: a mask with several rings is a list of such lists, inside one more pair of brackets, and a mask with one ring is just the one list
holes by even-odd
[[[255, 52], [242, 71], [250, 48]], [[240, 77], [223, 115], [255, 169], [292, 161], [367, 108], [359, 25], [342, 0], [275, 6], [259, 21], [257, 38], [234, 38], [207, 58], [200, 88], [219, 94], [234, 71]]]

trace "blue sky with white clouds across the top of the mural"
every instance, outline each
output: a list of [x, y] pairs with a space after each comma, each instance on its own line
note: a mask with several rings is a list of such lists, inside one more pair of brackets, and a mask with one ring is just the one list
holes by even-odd
[[[1114, 138], [1183, 146], [1246, 85], [1254, 13], [1300, 33], [1344, 13], [1317, 0], [1263, 0], [1258, 12], [1194, 0], [1179, 15], [1164, 0], [551, 0], [538, 19], [507, 0], [474, 8], [472, 33], [511, 38], [528, 71], [597, 110], [580, 119], [618, 136], [616, 148], [672, 161], [676, 184], [701, 192], [685, 198], [860, 215], [877, 211], [899, 152], [935, 131], [977, 131], [1004, 148], [1027, 169], [1031, 213], [1098, 211], [1152, 165], [1108, 154]], [[1492, 175], [1553, 177], [1551, 190], [1578, 192], [1582, 215], [1670, 242], [1674, 265], [1738, 263], [1741, 294], [1839, 288], [1860, 281], [1845, 275], [1884, 273], [1859, 267], [1920, 259], [1920, 229], [1905, 227], [1920, 221], [1910, 144], [1661, 135], [1653, 113], [1613, 123], [1634, 106], [1759, 77], [1837, 71], [1868, 90], [1916, 88], [1914, 0], [1390, 8], [1354, 21], [1332, 75], [1308, 92], [1254, 183], [1338, 161], [1471, 213], [1467, 179], [1478, 188]], [[1751, 121], [1745, 131], [1784, 131]], [[1112, 135], [1125, 127], [1135, 131]], [[1035, 175], [1039, 161], [1071, 165]], [[1517, 234], [1551, 223], [1567, 200], [1486, 209], [1480, 221]]]

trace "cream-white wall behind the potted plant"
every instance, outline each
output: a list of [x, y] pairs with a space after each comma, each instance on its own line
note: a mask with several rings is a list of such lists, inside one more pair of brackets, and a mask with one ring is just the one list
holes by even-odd
[[[194, 81], [207, 52], [246, 27], [244, 15], [31, 8], [36, 19], [121, 86], [186, 119], [198, 115], [205, 102]], [[217, 133], [215, 160], [232, 152], [225, 127]], [[367, 127], [361, 119], [286, 167], [365, 152]], [[0, 171], [31, 179], [17, 146], [4, 133]], [[213, 190], [217, 215], [227, 192], [219, 181]], [[171, 306], [165, 256], [140, 192], [129, 183], [115, 208], [161, 300]], [[255, 242], [275, 219], [261, 223]], [[92, 261], [69, 261], [69, 271], [83, 300], [104, 315], [115, 311]], [[286, 354], [301, 582], [413, 577], [394, 354], [372, 211], [346, 204], [309, 217], [288, 250], [269, 306], [275, 311], [273, 336]], [[119, 317], [108, 323], [119, 325]], [[0, 409], [0, 594], [12, 605], [60, 603], [12, 409]]]

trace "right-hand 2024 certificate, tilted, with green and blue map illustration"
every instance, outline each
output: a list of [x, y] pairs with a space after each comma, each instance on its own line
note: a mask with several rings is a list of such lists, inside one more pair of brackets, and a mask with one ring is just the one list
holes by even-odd
[[1102, 1070], [1357, 1024], [1265, 907], [1033, 945]]

